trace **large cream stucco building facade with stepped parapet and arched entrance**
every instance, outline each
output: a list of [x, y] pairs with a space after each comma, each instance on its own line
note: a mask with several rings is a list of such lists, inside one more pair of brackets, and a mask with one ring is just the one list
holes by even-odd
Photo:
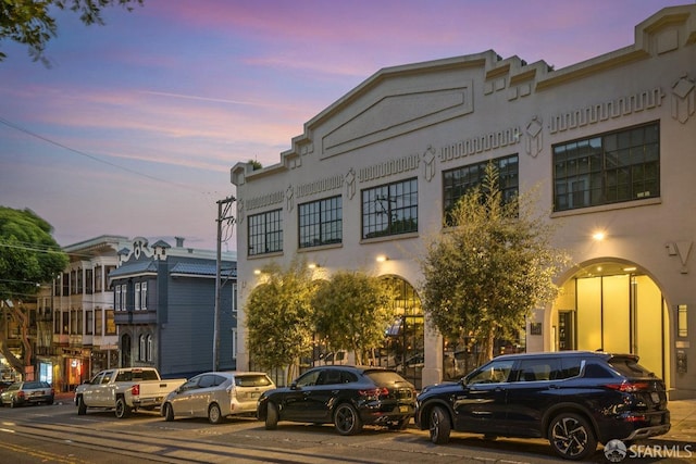
[[[695, 4], [661, 10], [635, 27], [634, 45], [562, 70], [486, 51], [378, 71], [306, 123], [278, 164], [235, 165], [237, 365], [249, 359], [244, 308], [254, 269], [301, 253], [318, 277], [362, 269], [418, 291], [417, 256], [442, 231], [445, 176], [500, 159], [517, 165], [519, 191], [538, 188], [555, 244], [573, 258], [557, 279], [563, 296], [530, 321], [526, 350], [635, 352], [672, 398], [696, 397]], [[363, 196], [411, 179], [417, 229], [372, 237], [381, 226], [365, 222]], [[338, 239], [300, 247], [300, 205], [336, 198]], [[598, 230], [602, 241], [592, 238]], [[443, 340], [424, 337], [427, 385], [443, 378]]]

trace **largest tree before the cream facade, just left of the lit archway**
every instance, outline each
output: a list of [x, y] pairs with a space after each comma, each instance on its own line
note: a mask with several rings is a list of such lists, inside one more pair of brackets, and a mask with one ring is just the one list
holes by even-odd
[[421, 260], [425, 314], [448, 339], [478, 343], [480, 364], [496, 339], [517, 337], [532, 310], [554, 301], [554, 277], [569, 261], [550, 246], [554, 228], [534, 213], [534, 191], [504, 201], [498, 179], [489, 163]]

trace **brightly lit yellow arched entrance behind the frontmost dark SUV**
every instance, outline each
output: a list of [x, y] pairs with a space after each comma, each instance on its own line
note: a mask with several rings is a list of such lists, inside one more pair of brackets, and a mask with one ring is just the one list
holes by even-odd
[[668, 380], [669, 315], [662, 291], [632, 263], [588, 263], [562, 286], [554, 305], [555, 350], [632, 353]]

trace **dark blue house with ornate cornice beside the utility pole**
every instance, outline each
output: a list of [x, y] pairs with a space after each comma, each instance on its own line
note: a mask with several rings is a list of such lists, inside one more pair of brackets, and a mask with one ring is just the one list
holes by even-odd
[[182, 238], [171, 247], [137, 237], [119, 251], [109, 280], [121, 367], [157, 367], [163, 377], [236, 367], [236, 253], [222, 253], [217, 310], [216, 264], [214, 251], [185, 248]]

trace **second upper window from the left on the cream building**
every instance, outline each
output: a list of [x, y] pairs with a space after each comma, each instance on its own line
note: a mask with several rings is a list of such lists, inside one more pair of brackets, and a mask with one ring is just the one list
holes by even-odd
[[344, 216], [340, 196], [302, 203], [297, 214], [300, 248], [341, 242]]

